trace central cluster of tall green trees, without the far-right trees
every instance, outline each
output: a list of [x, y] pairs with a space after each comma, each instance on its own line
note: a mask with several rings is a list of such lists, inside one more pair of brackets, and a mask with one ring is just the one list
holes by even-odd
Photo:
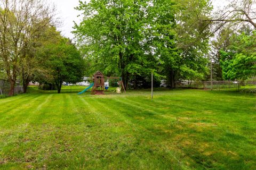
[[[191, 8], [192, 7], [192, 8]], [[151, 71], [175, 81], [202, 78], [207, 72], [209, 1], [80, 2], [83, 21], [75, 25], [78, 45], [92, 70], [131, 79]]]

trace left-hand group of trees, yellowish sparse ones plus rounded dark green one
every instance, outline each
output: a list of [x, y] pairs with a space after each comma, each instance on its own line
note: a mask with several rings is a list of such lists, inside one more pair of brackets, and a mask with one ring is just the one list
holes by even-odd
[[30, 81], [55, 84], [83, 76], [83, 58], [76, 46], [56, 30], [55, 8], [39, 0], [1, 0], [0, 65], [14, 95], [17, 80], [26, 93]]

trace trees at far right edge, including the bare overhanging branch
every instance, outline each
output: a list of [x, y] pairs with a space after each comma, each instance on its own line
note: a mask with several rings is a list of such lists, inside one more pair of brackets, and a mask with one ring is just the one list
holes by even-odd
[[256, 82], [256, 1], [231, 1], [210, 20], [215, 80]]

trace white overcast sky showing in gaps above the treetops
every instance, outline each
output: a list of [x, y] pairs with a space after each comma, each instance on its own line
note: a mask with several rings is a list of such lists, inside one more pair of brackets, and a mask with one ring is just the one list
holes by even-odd
[[[74, 38], [71, 33], [73, 31], [74, 22], [79, 23], [81, 18], [77, 18], [79, 12], [74, 9], [78, 6], [79, 0], [47, 0], [50, 3], [54, 3], [57, 7], [57, 12], [63, 24], [58, 28], [62, 32], [62, 35], [69, 38]], [[86, 0], [87, 2], [90, 0]], [[83, 1], [84, 2], [84, 1]], [[214, 8], [222, 7], [227, 4], [226, 0], [212, 0]]]

